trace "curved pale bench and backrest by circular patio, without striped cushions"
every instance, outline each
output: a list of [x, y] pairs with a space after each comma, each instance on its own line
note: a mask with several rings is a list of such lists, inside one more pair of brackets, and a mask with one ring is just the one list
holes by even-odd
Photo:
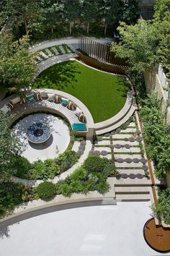
[[[63, 116], [68, 120], [68, 122], [71, 124], [71, 127], [73, 129], [73, 132], [76, 135], [86, 135], [87, 138], [91, 138], [94, 133], [94, 121], [93, 118], [86, 106], [81, 103], [77, 98], [73, 97], [72, 95], [69, 95], [68, 93], [63, 93], [60, 90], [51, 90], [51, 89], [37, 89], [30, 93], [47, 93], [47, 94], [56, 94], [60, 95], [63, 98], [66, 98], [70, 101], [73, 101], [73, 103], [76, 104], [76, 106], [79, 107], [80, 111], [84, 113], [84, 116], [86, 117], [86, 130], [81, 129], [79, 130], [79, 127], [82, 127], [84, 123], [79, 121], [78, 116], [76, 116], [76, 110], [68, 109], [66, 106], [63, 106], [62, 103], [55, 103], [53, 101], [48, 101], [48, 99], [42, 99], [40, 101], [27, 101], [26, 103], [14, 103], [14, 108], [12, 108], [11, 111], [8, 111], [9, 114], [9, 126], [12, 126], [17, 119], [21, 118], [22, 116], [26, 114], [32, 114], [37, 111], [47, 111], [52, 114], [58, 114], [60, 116]], [[12, 102], [15, 102], [15, 100], [18, 98], [17, 95], [11, 95], [8, 98], [5, 98], [4, 101], [1, 101], [0, 108], [4, 108], [6, 104]], [[17, 100], [16, 100], [17, 101]], [[78, 127], [78, 129], [74, 130], [74, 127]]]

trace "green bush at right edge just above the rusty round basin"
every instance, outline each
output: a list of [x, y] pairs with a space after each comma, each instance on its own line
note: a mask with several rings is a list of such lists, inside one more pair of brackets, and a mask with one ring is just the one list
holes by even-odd
[[170, 188], [158, 191], [158, 201], [152, 210], [154, 216], [170, 224]]

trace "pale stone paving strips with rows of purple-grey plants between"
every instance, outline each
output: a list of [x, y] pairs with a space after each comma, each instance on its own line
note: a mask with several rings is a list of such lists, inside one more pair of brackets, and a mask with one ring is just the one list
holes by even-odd
[[122, 179], [143, 179], [148, 176], [148, 164], [144, 157], [142, 137], [133, 116], [122, 127], [97, 136], [91, 155], [100, 155], [115, 161]]

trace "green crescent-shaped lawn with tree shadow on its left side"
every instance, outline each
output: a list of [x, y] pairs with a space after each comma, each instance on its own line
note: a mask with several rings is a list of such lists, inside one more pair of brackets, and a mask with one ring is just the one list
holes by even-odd
[[53, 88], [79, 98], [94, 123], [115, 116], [125, 104], [129, 90], [124, 77], [99, 72], [78, 61], [66, 61], [45, 69], [33, 88]]

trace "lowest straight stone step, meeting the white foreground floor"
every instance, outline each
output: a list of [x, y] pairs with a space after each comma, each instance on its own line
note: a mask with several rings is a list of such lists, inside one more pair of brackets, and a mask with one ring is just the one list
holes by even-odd
[[150, 194], [116, 194], [116, 200], [119, 201], [149, 201]]

